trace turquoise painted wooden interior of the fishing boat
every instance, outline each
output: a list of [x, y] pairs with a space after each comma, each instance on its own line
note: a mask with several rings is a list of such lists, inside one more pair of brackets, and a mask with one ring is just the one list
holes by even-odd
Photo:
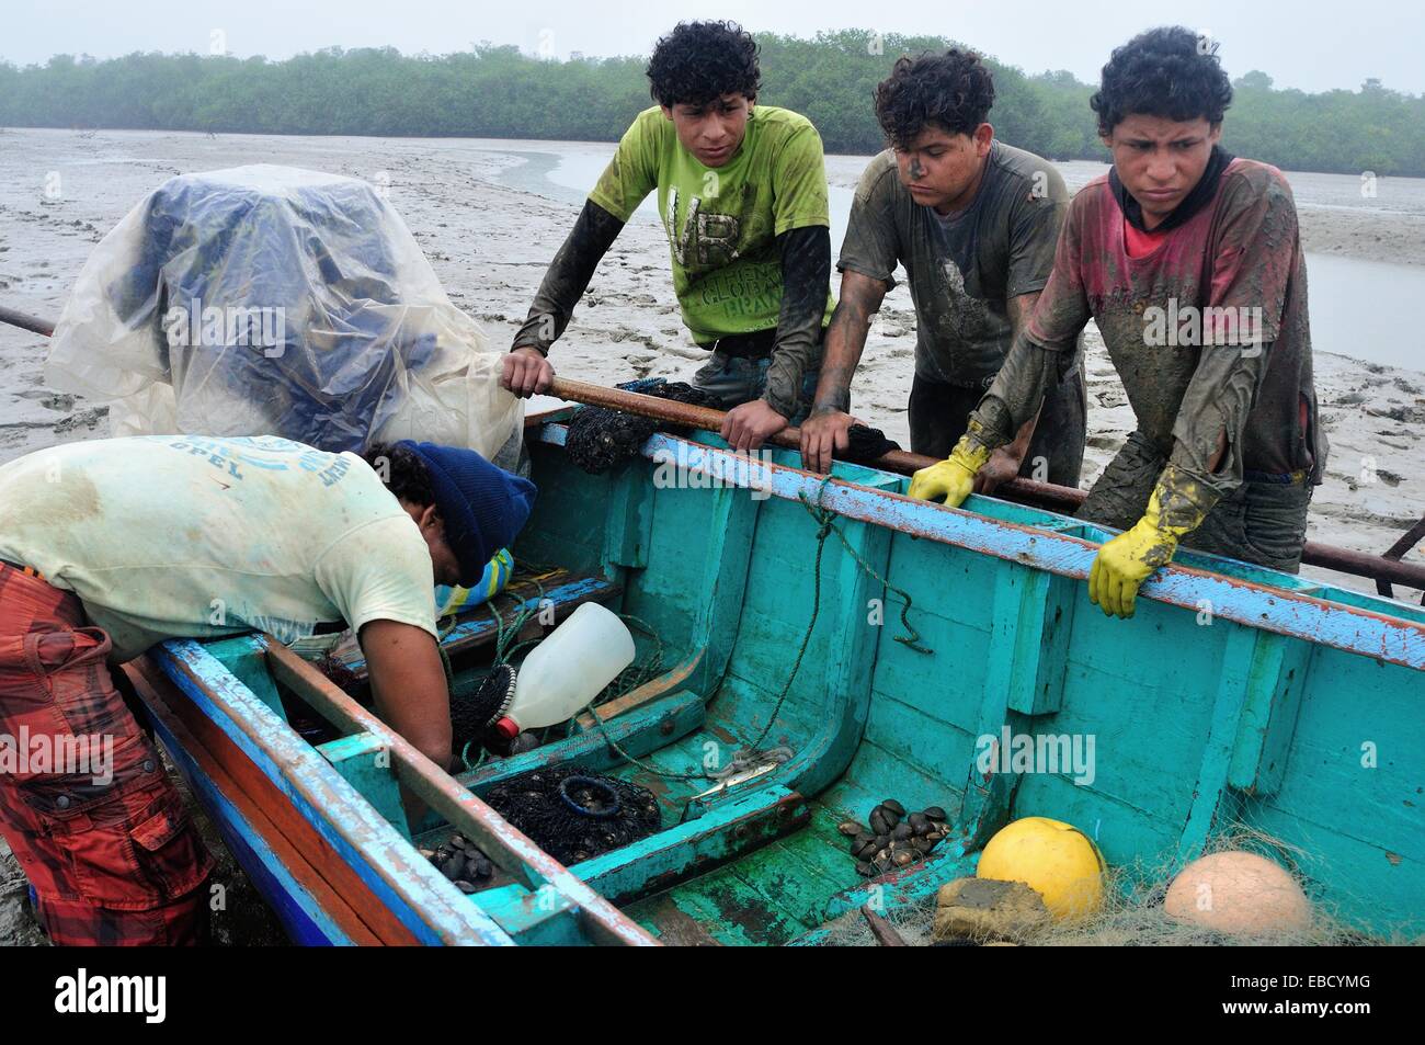
[[[453, 699], [479, 686], [500, 647], [537, 639], [550, 614], [589, 600], [630, 623], [640, 683], [533, 750], [466, 750], [456, 780], [482, 796], [571, 764], [648, 788], [661, 830], [569, 870], [651, 937], [817, 944], [868, 902], [932, 902], [1020, 815], [1069, 821], [1112, 865], [1144, 874], [1201, 854], [1227, 824], [1251, 824], [1297, 847], [1308, 891], [1344, 917], [1421, 917], [1418, 878], [1399, 864], [1425, 861], [1415, 808], [1425, 781], [1409, 776], [1411, 758], [1382, 757], [1365, 774], [1341, 757], [1418, 720], [1418, 671], [1150, 599], [1130, 622], [1106, 619], [1077, 577], [986, 555], [973, 533], [902, 525], [895, 512], [909, 502], [875, 508], [875, 492], [905, 490], [899, 475], [838, 465], [836, 478], [886, 513], [858, 519], [818, 508], [825, 485], [797, 470], [795, 453], [772, 453], [767, 490], [687, 472], [664, 483], [657, 456], [583, 473], [563, 452], [564, 431], [559, 415], [530, 431], [540, 495], [510, 586], [443, 639]], [[725, 446], [705, 432], [653, 443]], [[1073, 550], [1112, 536], [989, 498], [968, 508], [1016, 540], [1074, 537]], [[1305, 577], [1191, 552], [1177, 562], [1268, 596], [1425, 622], [1402, 603]], [[409, 837], [403, 778], [372, 764], [369, 726], [332, 714], [342, 697], [329, 684], [316, 699], [291, 670], [268, 663], [264, 673], [255, 639], [204, 649]], [[359, 653], [343, 667], [359, 703]], [[988, 740], [1019, 734], [1092, 737], [1090, 761], [986, 768], [998, 750]], [[1408, 743], [1419, 751], [1418, 738]], [[925, 860], [868, 880], [838, 825], [865, 823], [886, 798], [939, 805], [950, 828]], [[1342, 820], [1365, 807], [1379, 810], [1371, 830]], [[476, 835], [497, 870], [469, 901], [519, 942], [577, 940], [577, 920], [563, 917], [573, 901], [534, 902], [540, 878], [486, 830], [486, 814], [457, 823], [449, 804], [432, 805], [412, 841], [433, 848], [457, 827]]]

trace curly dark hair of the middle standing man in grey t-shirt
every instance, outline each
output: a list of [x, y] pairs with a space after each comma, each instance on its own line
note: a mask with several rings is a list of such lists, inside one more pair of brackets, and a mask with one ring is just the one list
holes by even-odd
[[973, 51], [902, 56], [876, 84], [876, 120], [892, 145], [905, 148], [928, 124], [973, 134], [995, 104], [995, 77]]

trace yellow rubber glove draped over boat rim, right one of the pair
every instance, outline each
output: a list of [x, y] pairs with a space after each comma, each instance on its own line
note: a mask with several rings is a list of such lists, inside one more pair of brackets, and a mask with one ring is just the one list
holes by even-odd
[[[1109, 540], [1089, 570], [1089, 602], [1104, 616], [1131, 617], [1139, 587], [1160, 566], [1167, 566], [1184, 533], [1196, 530], [1217, 493], [1168, 465], [1149, 498], [1147, 512], [1133, 529]], [[1164, 510], [1164, 505], [1170, 509]]]

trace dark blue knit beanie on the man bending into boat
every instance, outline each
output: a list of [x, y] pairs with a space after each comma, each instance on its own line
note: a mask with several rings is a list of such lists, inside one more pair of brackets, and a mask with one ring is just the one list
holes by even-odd
[[402, 439], [430, 473], [446, 543], [460, 562], [460, 585], [480, 582], [484, 565], [514, 536], [534, 508], [534, 483], [496, 468], [475, 451]]

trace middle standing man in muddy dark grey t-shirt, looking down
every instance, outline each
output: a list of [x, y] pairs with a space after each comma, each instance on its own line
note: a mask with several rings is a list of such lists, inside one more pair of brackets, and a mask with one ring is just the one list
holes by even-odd
[[[826, 328], [802, 458], [817, 472], [846, 449], [851, 375], [871, 316], [905, 265], [915, 302], [911, 449], [943, 458], [966, 415], [995, 379], [1049, 281], [1069, 207], [1046, 160], [995, 138], [995, 101], [976, 54], [949, 50], [901, 58], [876, 87], [876, 118], [891, 141], [861, 175], [841, 245], [841, 301]], [[1079, 485], [1084, 386], [1077, 362], [1054, 381], [1045, 406], [990, 455], [976, 490], [1027, 475]]]

